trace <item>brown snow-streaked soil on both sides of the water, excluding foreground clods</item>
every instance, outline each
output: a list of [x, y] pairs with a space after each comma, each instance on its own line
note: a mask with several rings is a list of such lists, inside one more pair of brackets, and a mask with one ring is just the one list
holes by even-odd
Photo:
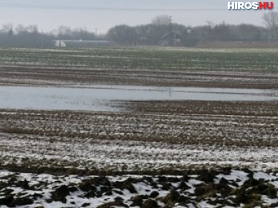
[[[0, 67], [1, 85], [162, 85], [277, 89], [273, 70]], [[278, 103], [115, 101], [120, 112], [0, 110], [0, 165], [51, 173], [276, 169]], [[51, 168], [49, 168], [51, 166]], [[62, 168], [61, 168], [62, 167]], [[50, 169], [50, 171], [49, 171]], [[67, 171], [66, 170], [66, 171]], [[172, 170], [172, 171], [171, 171]]]

